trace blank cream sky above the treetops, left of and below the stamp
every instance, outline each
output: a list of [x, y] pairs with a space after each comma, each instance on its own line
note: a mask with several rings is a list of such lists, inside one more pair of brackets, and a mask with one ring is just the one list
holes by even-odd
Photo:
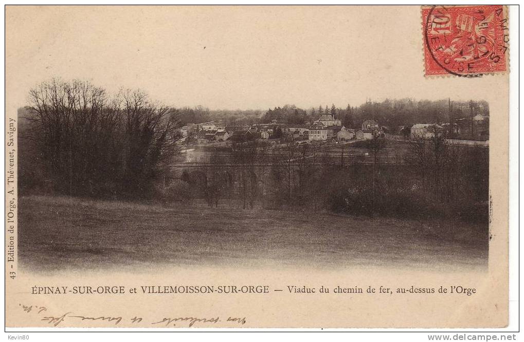
[[477, 91], [493, 77], [425, 78], [422, 48], [419, 6], [8, 6], [6, 94], [59, 77], [211, 109], [496, 96]]

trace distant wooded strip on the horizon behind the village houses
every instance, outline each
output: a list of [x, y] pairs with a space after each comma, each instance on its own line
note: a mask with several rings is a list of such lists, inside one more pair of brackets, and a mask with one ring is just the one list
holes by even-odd
[[453, 101], [451, 113], [449, 102], [443, 100], [385, 99], [366, 101], [358, 106], [348, 104], [337, 107], [334, 104], [320, 105], [309, 109], [296, 105], [284, 105], [261, 110], [211, 110], [202, 106], [177, 108], [181, 124], [222, 121], [227, 126], [253, 123], [307, 124], [318, 120], [322, 115], [332, 115], [342, 120], [347, 128], [360, 128], [364, 120], [377, 120], [381, 126], [411, 126], [414, 123], [443, 123], [454, 119], [489, 115], [489, 105], [485, 100]]

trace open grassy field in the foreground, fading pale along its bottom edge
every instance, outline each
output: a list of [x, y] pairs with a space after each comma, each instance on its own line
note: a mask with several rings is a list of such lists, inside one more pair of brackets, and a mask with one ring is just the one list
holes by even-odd
[[160, 264], [483, 268], [487, 227], [333, 213], [162, 207], [27, 196], [23, 268], [139, 269]]

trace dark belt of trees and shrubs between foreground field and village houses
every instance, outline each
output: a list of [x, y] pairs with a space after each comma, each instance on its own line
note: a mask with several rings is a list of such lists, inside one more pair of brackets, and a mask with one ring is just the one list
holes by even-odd
[[[381, 162], [389, 144], [407, 145], [403, 162]], [[203, 199], [210, 207], [487, 222], [488, 149], [445, 144], [441, 135], [410, 142], [377, 135], [356, 145], [369, 155], [337, 158], [292, 142], [268, 155], [256, 142], [236, 143], [232, 167], [186, 171], [164, 193], [169, 200]]]

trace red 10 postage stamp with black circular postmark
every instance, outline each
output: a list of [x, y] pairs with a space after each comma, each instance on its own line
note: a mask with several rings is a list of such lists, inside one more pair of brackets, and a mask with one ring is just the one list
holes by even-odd
[[508, 70], [503, 5], [422, 8], [425, 75], [479, 76]]

